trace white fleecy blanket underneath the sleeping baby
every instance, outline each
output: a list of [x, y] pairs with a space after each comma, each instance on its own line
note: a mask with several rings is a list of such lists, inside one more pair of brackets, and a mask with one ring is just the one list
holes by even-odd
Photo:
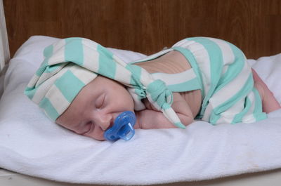
[[[33, 36], [19, 49], [0, 101], [0, 167], [64, 182], [148, 185], [206, 180], [281, 167], [281, 109], [253, 124], [136, 130], [129, 141], [100, 142], [53, 124], [23, 90], [55, 41]], [[112, 50], [126, 61], [143, 55]], [[281, 100], [281, 53], [250, 60]], [[266, 64], [266, 65], [264, 65]]]

